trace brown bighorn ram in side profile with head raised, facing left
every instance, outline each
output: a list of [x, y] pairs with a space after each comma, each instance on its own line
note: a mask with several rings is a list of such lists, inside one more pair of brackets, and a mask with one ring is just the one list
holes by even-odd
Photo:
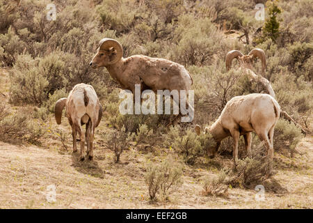
[[130, 90], [133, 94], [135, 84], [141, 85], [141, 91], [150, 89], [154, 93], [157, 90], [185, 90], [188, 94], [191, 89], [193, 79], [184, 66], [178, 63], [143, 55], [127, 58], [122, 55], [122, 45], [117, 40], [104, 38], [99, 42], [97, 54], [89, 65], [92, 68], [106, 67], [121, 88]]

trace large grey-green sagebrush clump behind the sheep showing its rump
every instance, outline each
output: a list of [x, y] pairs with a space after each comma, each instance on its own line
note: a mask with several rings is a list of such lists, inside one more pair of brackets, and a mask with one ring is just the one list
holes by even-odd
[[[10, 101], [41, 106], [51, 103], [47, 100], [55, 91], [63, 92], [58, 92], [56, 96], [65, 95], [75, 84], [97, 82], [93, 84], [96, 91], [101, 84], [105, 85], [102, 81], [104, 76], [98, 76], [93, 71], [86, 72], [82, 67], [83, 64], [79, 63], [74, 54], [64, 52], [53, 52], [37, 59], [31, 58], [29, 54], [19, 55], [11, 75]], [[105, 93], [103, 89], [99, 91], [99, 98]]]

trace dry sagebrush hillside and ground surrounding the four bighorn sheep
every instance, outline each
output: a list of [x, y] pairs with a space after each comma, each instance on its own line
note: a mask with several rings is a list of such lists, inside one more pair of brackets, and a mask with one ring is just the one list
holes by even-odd
[[[257, 1], [266, 6], [265, 21], [255, 20], [255, 2], [56, 0], [56, 20], [49, 21], [50, 1], [0, 0], [0, 208], [152, 208], [149, 199], [174, 208], [225, 208], [226, 192], [236, 208], [312, 208], [312, 1]], [[169, 125], [173, 115], [120, 114], [120, 84], [106, 68], [88, 66], [105, 37], [118, 40], [125, 57], [144, 54], [184, 65], [193, 78], [193, 123]], [[241, 137], [241, 160], [233, 172], [231, 137], [211, 160], [211, 136], [197, 136], [193, 128], [213, 123], [234, 96], [262, 90], [238, 72], [238, 61], [225, 68], [227, 52], [248, 54], [256, 47], [266, 53], [264, 77], [280, 107], [307, 131], [304, 137], [293, 123], [278, 121], [278, 174], [272, 178], [257, 137], [252, 157], [246, 157]], [[258, 75], [259, 70], [257, 61]], [[93, 162], [77, 162], [66, 150], [70, 125], [56, 128], [54, 120], [56, 100], [81, 82], [94, 87], [104, 110]], [[145, 146], [151, 149], [143, 153]], [[251, 197], [247, 188], [269, 179], [289, 193], [279, 199], [268, 193], [259, 206], [243, 201]], [[60, 194], [54, 204], [42, 196], [51, 183]]]

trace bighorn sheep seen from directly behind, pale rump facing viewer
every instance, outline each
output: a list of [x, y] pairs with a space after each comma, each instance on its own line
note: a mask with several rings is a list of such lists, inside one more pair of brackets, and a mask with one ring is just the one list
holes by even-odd
[[[87, 155], [93, 160], [93, 139], [95, 128], [102, 118], [102, 107], [93, 86], [77, 84], [67, 98], [61, 98], [56, 102], [54, 114], [56, 123], [61, 124], [62, 111], [72, 127], [73, 153], [77, 152], [76, 134], [79, 133], [81, 141], [80, 160], [85, 160], [85, 139], [87, 142]], [[86, 124], [86, 135], [83, 134], [82, 125]]]

